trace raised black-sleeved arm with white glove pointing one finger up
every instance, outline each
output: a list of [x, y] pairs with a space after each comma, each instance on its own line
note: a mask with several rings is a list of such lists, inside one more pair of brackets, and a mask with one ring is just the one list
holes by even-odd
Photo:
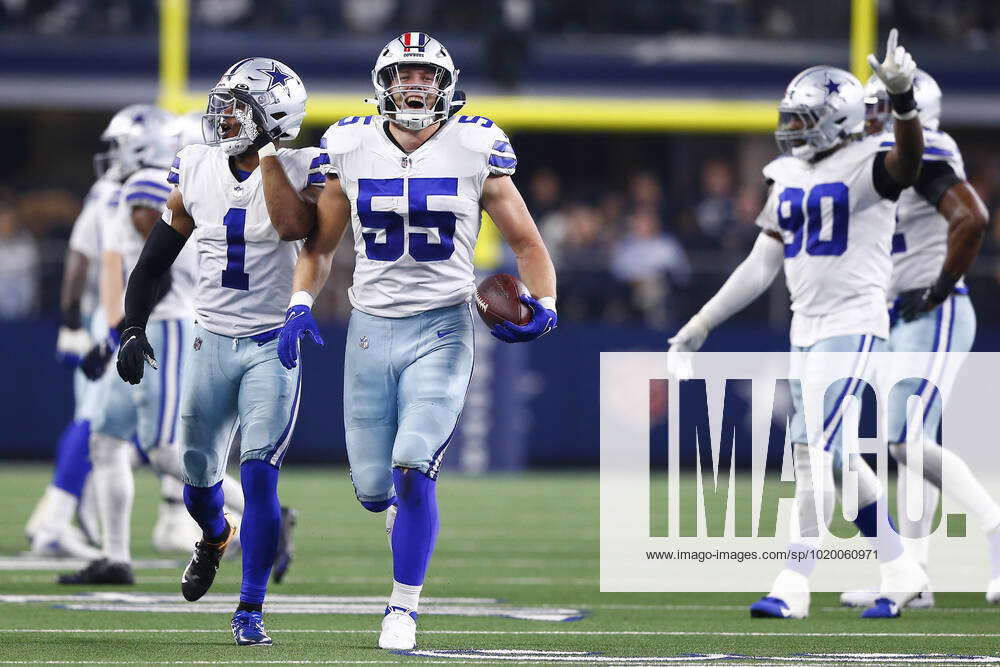
[[878, 58], [871, 54], [868, 56], [868, 64], [875, 76], [885, 84], [895, 119], [893, 132], [896, 135], [896, 145], [885, 156], [885, 170], [896, 183], [909, 187], [917, 182], [920, 175], [924, 134], [913, 97], [913, 77], [916, 75], [917, 65], [906, 49], [897, 45], [898, 39], [899, 33], [893, 28], [889, 31], [885, 60], [879, 63]]

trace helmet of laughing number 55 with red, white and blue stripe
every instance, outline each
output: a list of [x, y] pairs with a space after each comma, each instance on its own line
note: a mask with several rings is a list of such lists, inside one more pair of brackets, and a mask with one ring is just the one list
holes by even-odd
[[[425, 78], [400, 71], [427, 70]], [[459, 70], [441, 42], [427, 33], [404, 32], [385, 45], [372, 69], [378, 112], [408, 130], [422, 130], [448, 118]]]

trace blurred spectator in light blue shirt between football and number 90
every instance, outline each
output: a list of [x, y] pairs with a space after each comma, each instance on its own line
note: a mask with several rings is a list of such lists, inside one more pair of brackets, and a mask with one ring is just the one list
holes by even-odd
[[629, 305], [650, 326], [666, 326], [671, 283], [683, 285], [691, 275], [684, 248], [664, 232], [655, 211], [644, 208], [629, 219], [629, 231], [615, 245], [611, 272], [631, 286]]

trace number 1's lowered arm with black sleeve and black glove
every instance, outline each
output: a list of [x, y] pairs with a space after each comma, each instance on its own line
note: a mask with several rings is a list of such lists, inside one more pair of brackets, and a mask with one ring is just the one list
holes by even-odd
[[146, 340], [146, 322], [163, 296], [163, 278], [194, 231], [194, 219], [184, 208], [180, 190], [167, 198], [170, 223], [160, 220], [142, 247], [142, 254], [129, 277], [125, 291], [125, 318], [118, 348], [118, 375], [129, 384], [142, 380], [143, 362], [154, 368], [153, 348]]

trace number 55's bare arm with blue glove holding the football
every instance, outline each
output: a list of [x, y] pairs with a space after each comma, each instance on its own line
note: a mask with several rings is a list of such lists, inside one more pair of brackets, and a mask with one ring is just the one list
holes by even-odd
[[507, 343], [526, 342], [556, 327], [556, 270], [538, 227], [510, 176], [494, 174], [483, 183], [480, 204], [517, 257], [517, 270], [531, 296], [522, 296], [533, 313], [523, 327], [497, 325], [492, 333]]

